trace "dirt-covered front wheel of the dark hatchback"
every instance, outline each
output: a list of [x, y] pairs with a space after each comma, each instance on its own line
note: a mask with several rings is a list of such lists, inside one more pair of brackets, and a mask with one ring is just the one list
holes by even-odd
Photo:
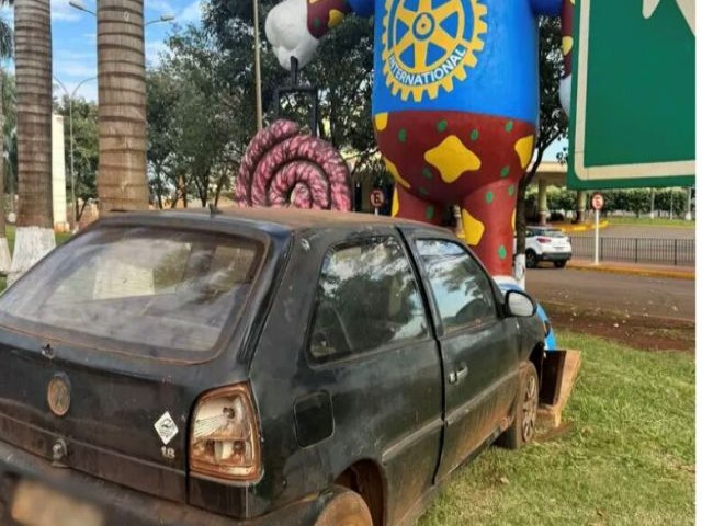
[[519, 449], [524, 444], [529, 444], [534, 437], [537, 409], [539, 375], [534, 364], [528, 362], [521, 368], [512, 425], [500, 435], [497, 444], [507, 449]]

